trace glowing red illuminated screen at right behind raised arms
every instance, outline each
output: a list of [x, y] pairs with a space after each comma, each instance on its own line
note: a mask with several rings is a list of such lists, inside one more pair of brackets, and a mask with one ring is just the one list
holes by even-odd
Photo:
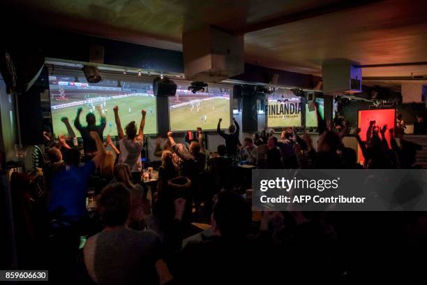
[[[387, 124], [387, 129], [394, 128], [396, 122], [396, 110], [395, 109], [381, 109], [381, 110], [359, 110], [358, 126], [361, 129], [360, 138], [366, 141], [366, 131], [368, 131], [369, 122], [375, 121], [375, 125], [378, 127]], [[386, 133], [387, 142], [390, 145], [389, 131]], [[358, 151], [358, 161], [364, 162], [364, 156], [361, 154], [361, 150]]]

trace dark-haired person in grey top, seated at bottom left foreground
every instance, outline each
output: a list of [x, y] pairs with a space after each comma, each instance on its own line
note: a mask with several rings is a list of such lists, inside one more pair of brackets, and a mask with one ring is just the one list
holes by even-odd
[[158, 284], [160, 238], [153, 231], [126, 227], [130, 193], [122, 183], [101, 192], [98, 210], [105, 228], [84, 245], [84, 264], [97, 284]]

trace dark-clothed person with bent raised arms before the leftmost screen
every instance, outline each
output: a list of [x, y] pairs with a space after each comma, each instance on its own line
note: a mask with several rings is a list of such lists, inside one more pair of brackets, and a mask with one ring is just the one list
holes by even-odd
[[105, 119], [105, 115], [100, 109], [100, 106], [96, 106], [96, 110], [98, 110], [100, 115], [100, 125], [96, 126], [96, 117], [93, 113], [89, 112], [86, 115], [87, 126], [82, 126], [80, 124], [80, 114], [82, 113], [82, 108], [77, 109], [77, 116], [74, 120], [75, 129], [80, 131], [80, 135], [83, 138], [83, 149], [84, 149], [84, 160], [90, 161], [96, 156], [96, 142], [91, 138], [90, 132], [95, 131], [98, 133], [100, 140], [103, 140], [103, 132], [105, 129], [105, 125], [107, 124], [107, 120]]

